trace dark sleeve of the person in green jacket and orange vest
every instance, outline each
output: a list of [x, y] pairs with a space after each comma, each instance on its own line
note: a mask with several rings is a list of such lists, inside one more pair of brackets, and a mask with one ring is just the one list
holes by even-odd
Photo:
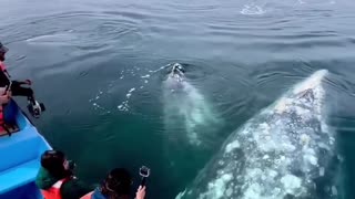
[[88, 186], [79, 179], [72, 179], [63, 184], [60, 193], [62, 196], [62, 199], [80, 199], [80, 197], [87, 195], [92, 190], [93, 187]]

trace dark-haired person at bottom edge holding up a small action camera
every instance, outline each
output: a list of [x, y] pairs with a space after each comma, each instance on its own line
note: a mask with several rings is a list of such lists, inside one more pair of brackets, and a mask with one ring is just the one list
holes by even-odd
[[[115, 168], [110, 171], [101, 185], [81, 199], [130, 199], [132, 177], [124, 168]], [[144, 199], [145, 187], [140, 187], [135, 199]]]

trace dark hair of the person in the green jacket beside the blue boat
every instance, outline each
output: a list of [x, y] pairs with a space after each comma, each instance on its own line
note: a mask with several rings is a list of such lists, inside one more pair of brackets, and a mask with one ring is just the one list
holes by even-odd
[[62, 179], [71, 176], [70, 170], [64, 168], [65, 155], [59, 150], [47, 150], [41, 156], [41, 166], [54, 178]]

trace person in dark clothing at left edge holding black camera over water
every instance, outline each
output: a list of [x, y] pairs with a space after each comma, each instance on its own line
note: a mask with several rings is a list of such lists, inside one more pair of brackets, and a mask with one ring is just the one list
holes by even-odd
[[9, 51], [7, 46], [4, 46], [0, 42], [0, 87], [9, 87], [11, 90], [12, 96], [27, 96], [29, 104], [30, 113], [34, 117], [39, 117], [42, 112], [40, 104], [34, 100], [33, 90], [30, 87], [23, 87], [22, 85], [31, 85], [32, 82], [30, 80], [26, 81], [11, 81], [11, 76], [8, 73], [7, 66], [3, 63], [6, 60], [6, 54]]

